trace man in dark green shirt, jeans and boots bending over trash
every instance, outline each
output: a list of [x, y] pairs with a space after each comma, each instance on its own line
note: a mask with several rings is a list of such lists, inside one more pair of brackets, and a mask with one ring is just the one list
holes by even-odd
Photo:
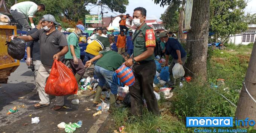
[[[107, 39], [107, 38], [106, 38]], [[96, 95], [93, 99], [93, 103], [100, 103], [100, 96], [103, 86], [108, 83], [111, 89], [110, 94], [110, 108], [108, 112], [112, 112], [117, 96], [117, 84], [113, 82], [113, 74], [116, 69], [118, 69], [126, 60], [128, 60], [130, 55], [126, 52], [122, 55], [115, 51], [101, 51], [94, 58], [86, 62], [86, 67], [90, 67], [93, 61], [98, 60], [94, 66], [94, 72], [99, 78], [99, 84], [97, 87]]]

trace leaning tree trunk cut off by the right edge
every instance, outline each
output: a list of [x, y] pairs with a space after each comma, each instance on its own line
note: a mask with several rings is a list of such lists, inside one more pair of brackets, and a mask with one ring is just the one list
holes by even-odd
[[236, 108], [236, 118], [238, 118], [237, 120], [244, 120], [248, 117], [249, 121], [255, 121], [256, 103], [253, 101], [253, 99], [251, 99], [245, 90], [245, 86], [251, 96], [256, 99], [256, 42], [254, 42], [253, 51], [251, 51], [250, 62], [248, 64], [244, 82], [245, 85], [242, 87]]

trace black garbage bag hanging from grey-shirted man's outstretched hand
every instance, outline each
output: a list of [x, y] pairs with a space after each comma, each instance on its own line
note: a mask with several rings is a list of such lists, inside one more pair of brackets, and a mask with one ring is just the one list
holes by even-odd
[[21, 60], [24, 57], [26, 42], [23, 39], [14, 38], [10, 42], [6, 42], [6, 45], [8, 45], [7, 52], [12, 58]]

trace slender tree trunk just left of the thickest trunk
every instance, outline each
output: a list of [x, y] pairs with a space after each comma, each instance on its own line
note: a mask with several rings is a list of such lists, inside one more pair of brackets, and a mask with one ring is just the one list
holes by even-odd
[[183, 22], [185, 19], [185, 15], [184, 15], [184, 9], [185, 9], [185, 0], [182, 1], [182, 8], [180, 10], [180, 17], [179, 17], [179, 31], [178, 31], [178, 40], [181, 42], [181, 40], [183, 39]]

